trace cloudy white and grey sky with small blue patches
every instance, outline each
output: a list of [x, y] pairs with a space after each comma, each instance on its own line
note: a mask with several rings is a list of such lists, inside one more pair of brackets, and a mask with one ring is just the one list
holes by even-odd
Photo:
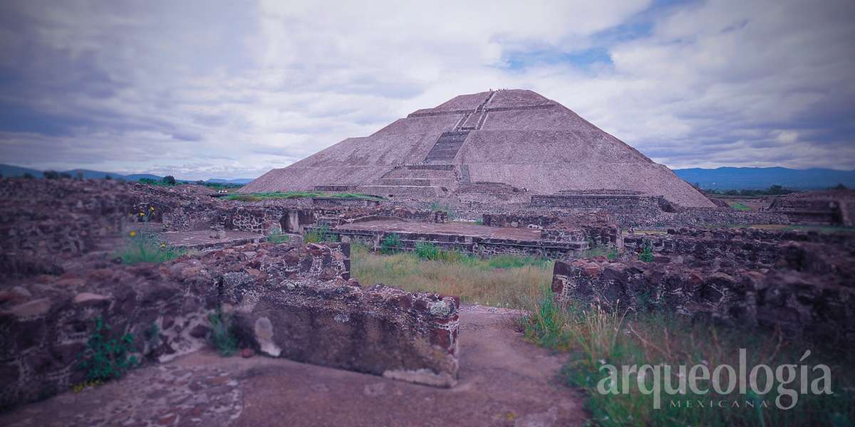
[[0, 162], [253, 178], [524, 88], [669, 167], [855, 169], [855, 2], [0, 2]]

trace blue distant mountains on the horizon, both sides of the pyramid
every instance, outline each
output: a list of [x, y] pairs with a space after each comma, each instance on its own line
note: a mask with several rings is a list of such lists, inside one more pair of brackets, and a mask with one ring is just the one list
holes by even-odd
[[[72, 169], [69, 171], [57, 171], [68, 173], [73, 177], [77, 173], [83, 173], [84, 178], [104, 178], [109, 175], [114, 179], [125, 179], [127, 181], [138, 181], [141, 178], [162, 179], [163, 177], [150, 173], [134, 173], [122, 175], [121, 173], [108, 173], [91, 171], [88, 169]], [[42, 171], [27, 167], [17, 167], [0, 164], [0, 173], [3, 177], [20, 177], [24, 173], [30, 173], [36, 178], [42, 178]], [[838, 171], [834, 169], [790, 169], [787, 167], [718, 167], [716, 169], [702, 169], [693, 167], [689, 169], [674, 169], [674, 173], [689, 184], [699, 184], [703, 189], [730, 190], [730, 189], [766, 189], [771, 185], [782, 185], [787, 188], [799, 190], [826, 189], [837, 184], [844, 184], [849, 188], [855, 188], [855, 171]], [[193, 182], [194, 179], [178, 179], [182, 182]], [[210, 178], [205, 182], [219, 184], [249, 184], [253, 178], [222, 179]]]

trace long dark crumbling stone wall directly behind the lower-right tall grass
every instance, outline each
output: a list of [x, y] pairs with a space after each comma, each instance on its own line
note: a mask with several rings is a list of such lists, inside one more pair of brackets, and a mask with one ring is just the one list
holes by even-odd
[[851, 345], [855, 289], [840, 277], [790, 270], [726, 273], [671, 263], [556, 261], [557, 301], [607, 310], [663, 310], [728, 325], [781, 327]]

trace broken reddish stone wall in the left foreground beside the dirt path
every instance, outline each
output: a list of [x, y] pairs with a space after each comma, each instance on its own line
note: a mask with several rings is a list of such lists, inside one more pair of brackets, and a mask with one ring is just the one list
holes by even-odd
[[[246, 244], [160, 265], [101, 262], [0, 290], [0, 406], [85, 381], [78, 354], [93, 319], [131, 333], [144, 363], [206, 345], [209, 313], [274, 357], [449, 387], [459, 300], [349, 279], [349, 246]], [[356, 354], [357, 357], [353, 357]]]

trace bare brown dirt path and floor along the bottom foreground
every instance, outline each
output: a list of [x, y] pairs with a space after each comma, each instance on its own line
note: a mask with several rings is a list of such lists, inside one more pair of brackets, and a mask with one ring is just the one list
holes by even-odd
[[436, 389], [265, 357], [210, 351], [0, 414], [4, 426], [565, 426], [585, 419], [555, 380], [560, 355], [522, 342], [513, 312], [461, 310], [460, 382]]

